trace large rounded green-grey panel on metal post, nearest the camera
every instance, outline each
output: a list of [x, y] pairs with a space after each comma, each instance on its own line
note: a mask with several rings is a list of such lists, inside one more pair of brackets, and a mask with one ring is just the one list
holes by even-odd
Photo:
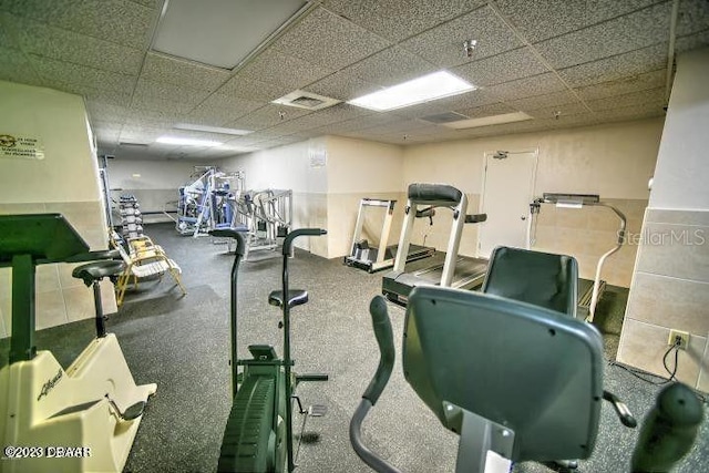
[[487, 294], [419, 286], [407, 307], [402, 362], [444, 425], [448, 401], [511, 428], [514, 461], [590, 455], [603, 342], [588, 323]]

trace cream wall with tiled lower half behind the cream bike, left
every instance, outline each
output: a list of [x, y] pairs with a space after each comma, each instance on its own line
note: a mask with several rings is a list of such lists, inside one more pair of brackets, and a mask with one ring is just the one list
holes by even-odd
[[[0, 157], [0, 214], [61, 213], [91, 249], [107, 234], [99, 171], [83, 100], [49, 89], [0, 81], [0, 133], [39, 140], [43, 160]], [[71, 277], [76, 265], [43, 265], [37, 275], [37, 329], [94, 316], [92, 291]], [[104, 310], [115, 312], [112, 285]], [[11, 271], [0, 269], [0, 338], [11, 331]]]

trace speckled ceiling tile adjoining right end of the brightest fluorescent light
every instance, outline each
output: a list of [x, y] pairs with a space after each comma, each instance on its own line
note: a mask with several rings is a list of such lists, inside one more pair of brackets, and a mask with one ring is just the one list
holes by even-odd
[[473, 59], [472, 62], [459, 65], [451, 72], [481, 86], [537, 75], [547, 72], [547, 69], [530, 48], [524, 47], [491, 58]]

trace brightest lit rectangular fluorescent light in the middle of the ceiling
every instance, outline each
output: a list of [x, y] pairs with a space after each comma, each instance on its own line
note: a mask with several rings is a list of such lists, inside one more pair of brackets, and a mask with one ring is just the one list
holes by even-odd
[[384, 112], [462, 94], [463, 92], [475, 89], [474, 85], [448, 71], [439, 71], [360, 96], [348, 103], [378, 112]]

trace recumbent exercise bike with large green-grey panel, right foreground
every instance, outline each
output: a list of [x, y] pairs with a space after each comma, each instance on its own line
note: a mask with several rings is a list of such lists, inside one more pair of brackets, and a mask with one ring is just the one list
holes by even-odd
[[[496, 250], [500, 258], [491, 267], [496, 260], [501, 265], [489, 269], [486, 292], [421, 286], [412, 290], [407, 306], [404, 377], [441, 423], [460, 435], [456, 472], [507, 473], [512, 462], [587, 459], [604, 400], [624, 425], [636, 425], [627, 407], [603, 389], [600, 333], [540, 305], [542, 298], [559, 308], [575, 304], [575, 297], [559, 298], [555, 286], [569, 273], [568, 261], [559, 257], [554, 264], [548, 260], [552, 255], [514, 251], [521, 254], [507, 257]], [[526, 261], [527, 282], [518, 284], [515, 294], [501, 287], [505, 282], [500, 276], [518, 271], [511, 263], [521, 260]], [[493, 286], [507, 296], [492, 294]], [[528, 299], [525, 288], [534, 289], [536, 304], [521, 300]], [[386, 388], [395, 357], [381, 296], [372, 299], [370, 313], [381, 358], [351, 419], [350, 442], [372, 470], [399, 473], [361, 438], [362, 422]], [[702, 417], [691, 389], [680, 383], [666, 388], [640, 432], [630, 471], [669, 471], [691, 449]]]

